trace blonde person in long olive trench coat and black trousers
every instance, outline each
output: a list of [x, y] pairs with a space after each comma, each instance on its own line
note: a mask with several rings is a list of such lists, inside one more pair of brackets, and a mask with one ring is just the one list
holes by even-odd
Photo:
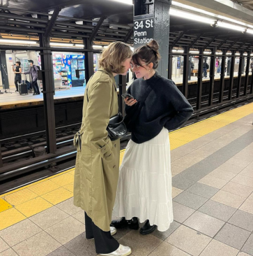
[[[96, 253], [100, 254], [112, 253], [116, 249], [124, 253], [123, 249], [128, 248], [119, 245], [110, 234], [118, 184], [120, 141], [110, 140], [107, 125], [109, 118], [118, 114], [114, 76], [127, 73], [131, 54], [130, 47], [121, 42], [112, 43], [102, 52], [100, 69], [86, 85], [82, 127], [74, 138], [77, 146], [74, 204], [85, 211], [86, 218], [92, 220], [97, 231], [107, 234], [105, 241], [96, 239], [92, 234], [93, 227], [93, 231], [88, 231], [90, 237], [87, 237], [86, 223], [86, 238], [95, 239]], [[107, 243], [111, 243], [111, 246]], [[123, 253], [116, 255], [128, 255]]]

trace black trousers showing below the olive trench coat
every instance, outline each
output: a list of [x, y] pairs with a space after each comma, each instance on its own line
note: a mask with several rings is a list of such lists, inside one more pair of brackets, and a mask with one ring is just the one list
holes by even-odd
[[112, 253], [118, 249], [119, 243], [111, 236], [111, 232], [102, 231], [97, 227], [91, 218], [85, 214], [86, 239], [95, 240], [96, 253]]

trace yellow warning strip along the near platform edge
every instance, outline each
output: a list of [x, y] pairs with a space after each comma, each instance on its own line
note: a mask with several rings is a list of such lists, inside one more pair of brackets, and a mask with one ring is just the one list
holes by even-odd
[[[169, 134], [171, 150], [229, 125], [251, 113], [253, 113], [253, 103], [172, 131]], [[121, 161], [124, 152], [125, 150], [121, 150]], [[72, 197], [74, 172], [75, 169], [70, 169], [0, 195], [0, 230]]]

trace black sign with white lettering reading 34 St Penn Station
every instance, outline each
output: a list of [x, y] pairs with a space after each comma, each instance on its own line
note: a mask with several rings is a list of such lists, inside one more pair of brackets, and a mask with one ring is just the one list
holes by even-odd
[[154, 16], [153, 14], [134, 17], [134, 48], [139, 48], [153, 40]]

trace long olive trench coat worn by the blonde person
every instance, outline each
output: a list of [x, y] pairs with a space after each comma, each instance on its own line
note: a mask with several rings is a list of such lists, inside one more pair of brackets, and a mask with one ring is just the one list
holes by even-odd
[[[87, 99], [88, 96], [88, 99]], [[84, 94], [81, 142], [77, 146], [74, 204], [103, 231], [109, 231], [116, 197], [120, 142], [107, 133], [109, 118], [118, 114], [118, 94], [112, 73], [100, 69]], [[81, 144], [80, 146], [77, 144]]]

